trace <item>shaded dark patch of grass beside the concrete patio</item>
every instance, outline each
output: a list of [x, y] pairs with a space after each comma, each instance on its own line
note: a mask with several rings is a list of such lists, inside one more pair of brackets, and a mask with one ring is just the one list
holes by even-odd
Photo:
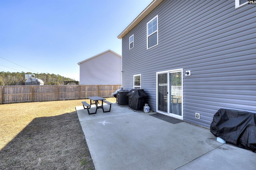
[[77, 113], [34, 118], [0, 150], [0, 169], [94, 170]]

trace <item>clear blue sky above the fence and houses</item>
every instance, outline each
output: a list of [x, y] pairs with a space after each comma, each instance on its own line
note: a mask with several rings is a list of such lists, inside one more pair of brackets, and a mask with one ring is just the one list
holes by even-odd
[[[77, 63], [108, 49], [152, 0], [0, 0], [0, 72], [79, 80]], [[111, 65], [110, 65], [111, 66]]]

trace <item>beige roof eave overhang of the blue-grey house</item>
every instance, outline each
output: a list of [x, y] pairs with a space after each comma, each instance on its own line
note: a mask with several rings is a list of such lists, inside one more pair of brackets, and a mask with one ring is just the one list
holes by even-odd
[[140, 23], [141, 20], [143, 20], [152, 10], [154, 10], [163, 1], [164, 0], [153, 0], [148, 5], [148, 7], [145, 10], [143, 10], [140, 13], [140, 15], [138, 15], [137, 18], [135, 18], [135, 20], [133, 20], [132, 23], [130, 23], [130, 25], [128, 25], [128, 27], [126, 27], [126, 29], [124, 29], [122, 33], [120, 33], [120, 35], [118, 35], [118, 39], [122, 39], [124, 35], [131, 31], [138, 23]]

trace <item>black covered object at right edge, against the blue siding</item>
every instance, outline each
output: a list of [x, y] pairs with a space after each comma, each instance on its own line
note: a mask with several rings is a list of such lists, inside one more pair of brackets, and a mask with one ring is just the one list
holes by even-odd
[[226, 143], [256, 152], [256, 113], [219, 109], [213, 117], [210, 131]]

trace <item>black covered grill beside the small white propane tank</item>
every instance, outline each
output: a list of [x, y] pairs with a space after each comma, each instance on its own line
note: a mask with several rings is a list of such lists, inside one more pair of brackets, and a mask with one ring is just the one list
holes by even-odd
[[129, 107], [133, 109], [143, 109], [148, 94], [143, 89], [132, 89], [126, 94], [128, 96]]

